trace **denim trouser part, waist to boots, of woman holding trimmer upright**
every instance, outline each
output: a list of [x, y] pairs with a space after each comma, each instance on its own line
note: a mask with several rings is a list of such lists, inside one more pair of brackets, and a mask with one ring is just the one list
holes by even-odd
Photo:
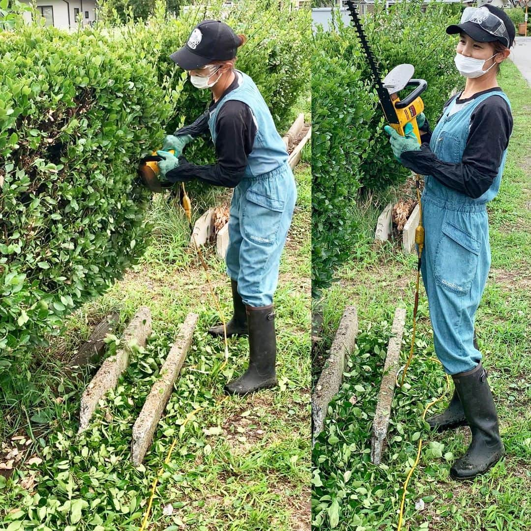
[[[457, 374], [473, 369], [482, 358], [473, 344], [474, 319], [490, 260], [484, 252], [482, 223], [475, 213], [446, 210], [429, 200], [424, 203], [424, 213], [426, 242], [421, 270], [435, 353], [448, 374]], [[488, 234], [486, 242], [488, 245]]]

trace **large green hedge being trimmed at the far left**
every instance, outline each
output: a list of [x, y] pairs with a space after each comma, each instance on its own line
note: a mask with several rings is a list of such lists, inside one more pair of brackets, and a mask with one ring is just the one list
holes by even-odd
[[0, 350], [41, 344], [147, 245], [138, 152], [172, 113], [156, 62], [118, 39], [37, 25], [0, 40]]

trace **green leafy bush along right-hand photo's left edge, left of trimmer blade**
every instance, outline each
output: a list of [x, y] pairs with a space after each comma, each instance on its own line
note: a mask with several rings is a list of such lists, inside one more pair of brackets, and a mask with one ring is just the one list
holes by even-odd
[[[357, 241], [350, 216], [372, 143], [367, 123], [376, 97], [361, 71], [335, 46], [340, 37], [315, 35], [312, 61], [312, 289], [327, 286]], [[330, 53], [331, 52], [331, 53]], [[359, 52], [357, 52], [359, 55]], [[314, 293], [316, 294], [316, 293]]]

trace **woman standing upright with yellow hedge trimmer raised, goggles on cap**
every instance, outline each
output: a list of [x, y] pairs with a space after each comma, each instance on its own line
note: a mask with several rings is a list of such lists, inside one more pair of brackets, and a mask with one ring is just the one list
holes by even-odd
[[474, 316], [489, 273], [491, 253], [486, 203], [498, 193], [512, 116], [496, 80], [510, 53], [515, 26], [498, 7], [467, 7], [459, 24], [455, 64], [465, 89], [450, 98], [433, 133], [419, 146], [412, 127], [400, 136], [389, 126], [400, 162], [425, 175], [422, 194], [425, 245], [422, 278], [430, 307], [435, 352], [452, 375], [455, 392], [448, 408], [429, 419], [433, 429], [469, 425], [472, 443], [450, 475], [472, 478], [504, 453], [498, 416], [474, 341]]

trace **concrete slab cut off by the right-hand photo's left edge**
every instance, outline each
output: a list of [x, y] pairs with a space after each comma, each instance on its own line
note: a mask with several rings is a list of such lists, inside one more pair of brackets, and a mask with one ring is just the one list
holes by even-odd
[[323, 430], [328, 404], [333, 396], [337, 395], [341, 386], [345, 370], [345, 356], [354, 349], [357, 334], [358, 316], [356, 307], [347, 306], [332, 342], [330, 356], [312, 394], [313, 444], [316, 436]]

